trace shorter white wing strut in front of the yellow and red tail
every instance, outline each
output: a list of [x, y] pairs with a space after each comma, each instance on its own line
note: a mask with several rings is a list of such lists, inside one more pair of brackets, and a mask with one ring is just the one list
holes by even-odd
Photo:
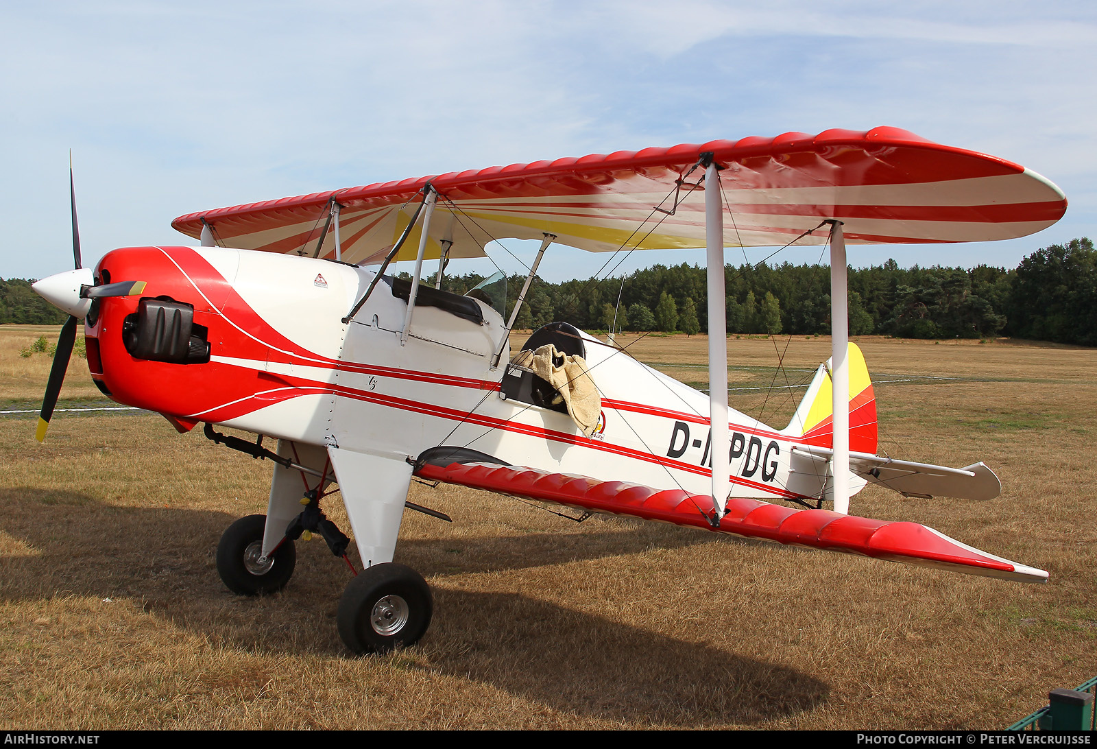
[[834, 384], [834, 455], [830, 458], [834, 511], [849, 514], [849, 300], [846, 239], [841, 222], [830, 222], [830, 381]]

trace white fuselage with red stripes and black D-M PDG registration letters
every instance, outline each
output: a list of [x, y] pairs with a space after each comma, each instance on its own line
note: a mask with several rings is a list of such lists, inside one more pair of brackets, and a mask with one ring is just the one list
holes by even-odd
[[[247, 250], [199, 251], [270, 327], [315, 355], [310, 360], [299, 349], [274, 345], [264, 360], [215, 354], [214, 361], [256, 370], [274, 385], [257, 394], [257, 407], [222, 422], [228, 426], [411, 459], [431, 447], [455, 446], [554, 472], [710, 491], [709, 399], [625, 351], [584, 336], [602, 399], [598, 428], [585, 437], [567, 414], [501, 394], [507, 332], [486, 304], [477, 301], [483, 325], [416, 306], [402, 345], [407, 303], [385, 282], [353, 321], [340, 322], [373, 279], [371, 270]], [[500, 346], [504, 365], [493, 367]], [[301, 394], [261, 402], [286, 388]], [[191, 415], [216, 418], [216, 410]], [[799, 433], [771, 429], [734, 410], [730, 421], [732, 495], [822, 494], [826, 465], [795, 454]]]

